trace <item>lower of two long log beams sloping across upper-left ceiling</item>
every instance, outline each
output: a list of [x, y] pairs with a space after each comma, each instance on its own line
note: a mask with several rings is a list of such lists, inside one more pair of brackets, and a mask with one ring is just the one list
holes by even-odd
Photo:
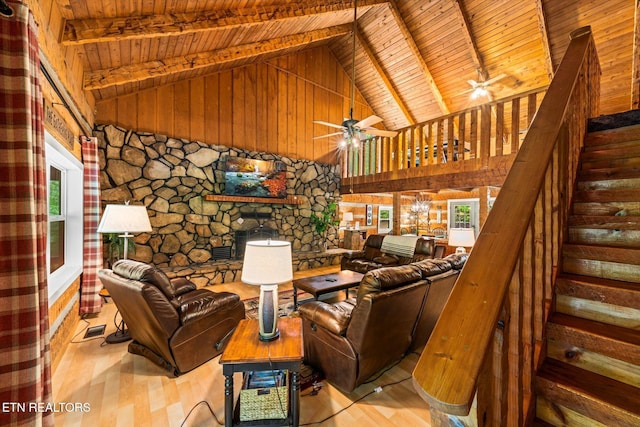
[[292, 34], [271, 40], [248, 43], [209, 52], [158, 59], [140, 64], [112, 67], [85, 73], [84, 89], [103, 89], [110, 86], [142, 81], [169, 74], [191, 71], [240, 59], [291, 49], [309, 43], [328, 40], [351, 32], [350, 24]]

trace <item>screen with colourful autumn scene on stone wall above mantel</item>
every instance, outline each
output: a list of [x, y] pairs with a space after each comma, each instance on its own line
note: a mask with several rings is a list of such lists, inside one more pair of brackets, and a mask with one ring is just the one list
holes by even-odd
[[228, 157], [225, 193], [231, 196], [287, 197], [287, 167], [283, 162]]

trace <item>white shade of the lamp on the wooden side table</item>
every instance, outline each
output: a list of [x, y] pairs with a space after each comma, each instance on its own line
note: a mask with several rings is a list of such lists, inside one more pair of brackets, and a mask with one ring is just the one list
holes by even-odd
[[291, 279], [293, 279], [293, 266], [290, 242], [282, 240], [247, 242], [241, 278], [244, 283], [278, 284]]

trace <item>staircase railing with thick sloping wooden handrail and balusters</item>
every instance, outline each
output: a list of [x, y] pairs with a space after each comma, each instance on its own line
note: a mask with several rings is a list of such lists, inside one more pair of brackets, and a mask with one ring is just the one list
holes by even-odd
[[[522, 426], [561, 262], [586, 122], [600, 68], [576, 30], [514, 165], [413, 372], [432, 425]], [[458, 424], [456, 424], [458, 425]]]

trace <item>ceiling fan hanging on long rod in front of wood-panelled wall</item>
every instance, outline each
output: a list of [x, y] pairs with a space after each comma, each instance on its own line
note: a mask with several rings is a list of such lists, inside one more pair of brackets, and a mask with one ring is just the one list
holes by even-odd
[[357, 17], [358, 17], [358, 2], [353, 2], [353, 45], [351, 53], [351, 100], [349, 105], [349, 118], [345, 118], [341, 124], [329, 123], [323, 120], [314, 120], [313, 123], [319, 125], [329, 126], [331, 128], [340, 129], [339, 132], [332, 132], [326, 135], [315, 136], [313, 139], [328, 138], [332, 136], [342, 135], [344, 140], [343, 146], [353, 144], [357, 146], [361, 139], [361, 135], [375, 135], [375, 136], [387, 136], [394, 137], [398, 132], [382, 130], [373, 127], [373, 125], [382, 122], [382, 119], [376, 115], [371, 115], [362, 120], [356, 120], [353, 118], [353, 104], [355, 96], [356, 85], [356, 31], [357, 31]]

